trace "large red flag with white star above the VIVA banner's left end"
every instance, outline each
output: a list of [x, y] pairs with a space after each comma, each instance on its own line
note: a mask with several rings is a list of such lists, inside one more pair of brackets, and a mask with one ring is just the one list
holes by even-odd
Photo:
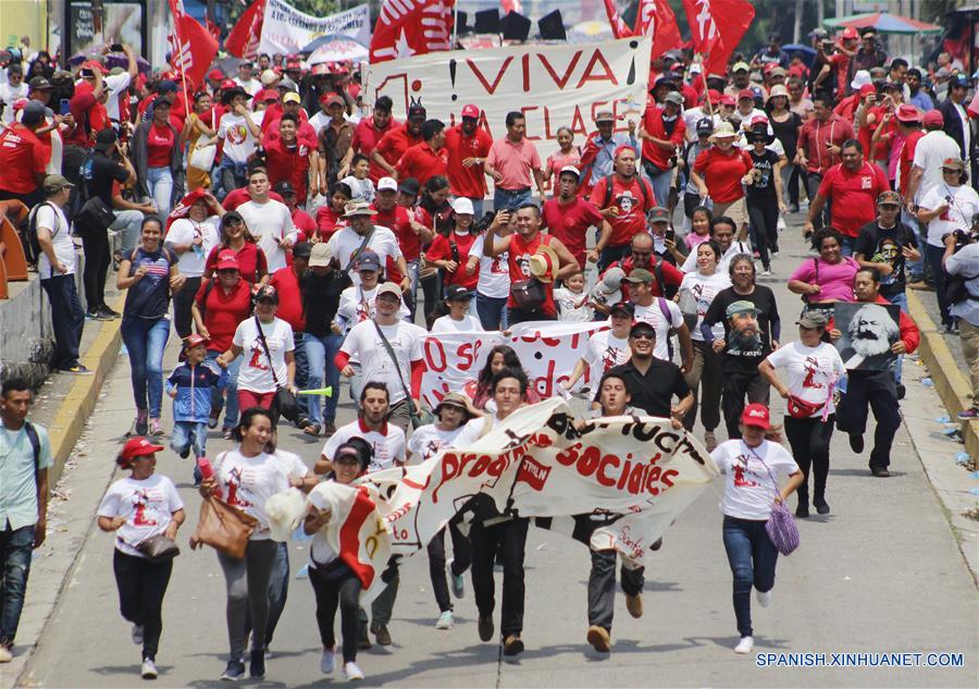
[[371, 37], [371, 63], [451, 48], [456, 0], [384, 0]]

